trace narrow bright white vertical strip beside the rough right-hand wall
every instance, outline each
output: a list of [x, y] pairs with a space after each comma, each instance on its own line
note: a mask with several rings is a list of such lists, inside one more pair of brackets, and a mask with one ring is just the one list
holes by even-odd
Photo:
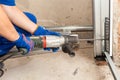
[[113, 0], [110, 0], [110, 56], [113, 55]]

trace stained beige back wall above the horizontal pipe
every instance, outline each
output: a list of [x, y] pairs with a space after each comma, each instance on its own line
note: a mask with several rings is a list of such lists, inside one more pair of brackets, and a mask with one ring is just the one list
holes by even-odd
[[92, 0], [16, 0], [44, 26], [92, 25]]

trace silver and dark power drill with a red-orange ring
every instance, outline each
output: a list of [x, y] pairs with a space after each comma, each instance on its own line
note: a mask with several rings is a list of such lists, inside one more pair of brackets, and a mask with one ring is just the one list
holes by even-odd
[[[71, 57], [75, 56], [73, 51], [74, 44], [78, 43], [78, 35], [62, 35], [62, 36], [32, 36], [35, 48], [57, 48], [62, 47], [64, 53], [68, 53]], [[25, 51], [24, 53], [25, 54]]]

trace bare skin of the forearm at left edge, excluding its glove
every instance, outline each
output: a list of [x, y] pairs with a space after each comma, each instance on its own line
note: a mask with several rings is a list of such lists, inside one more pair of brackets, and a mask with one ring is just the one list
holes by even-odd
[[5, 37], [10, 41], [15, 41], [19, 38], [18, 33], [11, 24], [9, 18], [4, 13], [3, 9], [0, 6], [0, 35]]

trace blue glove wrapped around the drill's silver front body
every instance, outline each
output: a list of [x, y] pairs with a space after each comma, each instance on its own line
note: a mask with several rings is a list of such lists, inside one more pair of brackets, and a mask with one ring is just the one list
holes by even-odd
[[[33, 35], [35, 35], [35, 36], [44, 36], [44, 35], [61, 36], [60, 33], [47, 30], [42, 26], [38, 26], [38, 28], [36, 29], [36, 31], [34, 32]], [[47, 50], [47, 51], [52, 50], [53, 52], [57, 52], [59, 50], [59, 47], [57, 47], [57, 48], [44, 48], [44, 50]]]

